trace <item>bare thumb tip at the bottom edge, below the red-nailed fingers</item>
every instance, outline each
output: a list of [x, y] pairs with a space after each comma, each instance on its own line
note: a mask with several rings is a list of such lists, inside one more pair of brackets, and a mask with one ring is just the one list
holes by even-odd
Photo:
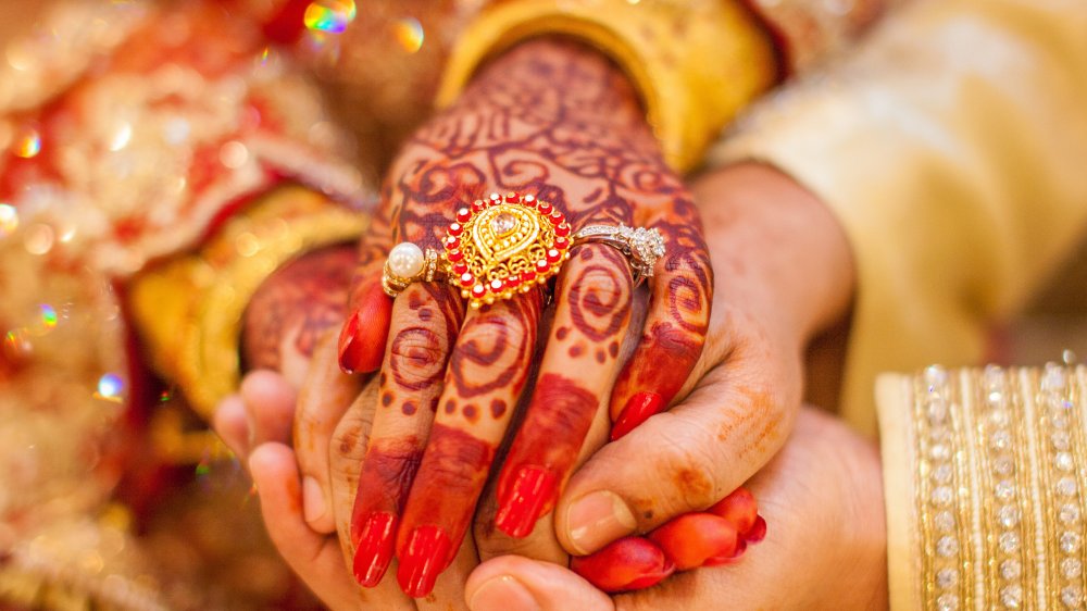
[[614, 611], [611, 598], [565, 566], [500, 556], [472, 572], [464, 587], [472, 611]]

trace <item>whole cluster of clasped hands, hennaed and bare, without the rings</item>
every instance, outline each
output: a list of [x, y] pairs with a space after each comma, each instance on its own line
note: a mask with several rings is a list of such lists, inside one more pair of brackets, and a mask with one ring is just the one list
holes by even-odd
[[[669, 250], [651, 290], [635, 291], [615, 250], [587, 245], [550, 306], [533, 291], [466, 312], [438, 284], [390, 301], [393, 236], [436, 245], [450, 202], [496, 185], [576, 225], [658, 228]], [[875, 452], [800, 409], [802, 350], [852, 291], [840, 229], [807, 191], [745, 165], [692, 197], [623, 75], [538, 40], [407, 144], [382, 199], [339, 341], [325, 334], [295, 379], [252, 374], [216, 417], [248, 457], [273, 540], [330, 607], [885, 604]], [[342, 253], [320, 257], [296, 265], [342, 269]], [[337, 365], [376, 373], [364, 384]], [[759, 538], [753, 513], [707, 512], [741, 485], [772, 532], [750, 558], [614, 599], [564, 569], [567, 553], [599, 552], [590, 578], [627, 589], [719, 563]], [[655, 546], [612, 544], [647, 533]]]

